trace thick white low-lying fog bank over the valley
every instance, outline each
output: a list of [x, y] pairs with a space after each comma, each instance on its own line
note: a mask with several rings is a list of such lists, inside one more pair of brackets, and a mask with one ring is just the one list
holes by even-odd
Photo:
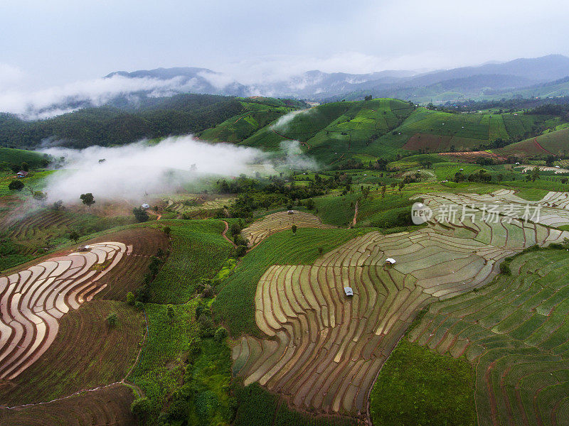
[[230, 178], [252, 175], [255, 170], [317, 168], [297, 141], [284, 141], [281, 148], [275, 155], [229, 143], [196, 141], [192, 136], [170, 137], [154, 145], [140, 141], [112, 148], [47, 148], [42, 151], [65, 157], [65, 170], [48, 178], [45, 191], [48, 202], [78, 203], [85, 192], [92, 192], [95, 200], [142, 202], [149, 194], [172, 192], [206, 175]]

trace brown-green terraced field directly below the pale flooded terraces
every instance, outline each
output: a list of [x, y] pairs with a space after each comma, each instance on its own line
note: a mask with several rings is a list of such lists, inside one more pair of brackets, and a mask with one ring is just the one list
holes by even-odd
[[[105, 320], [117, 314], [117, 324]], [[116, 383], [139, 353], [144, 315], [124, 302], [91, 300], [59, 320], [46, 352], [11, 381], [0, 383], [0, 404], [9, 407], [63, 398]]]

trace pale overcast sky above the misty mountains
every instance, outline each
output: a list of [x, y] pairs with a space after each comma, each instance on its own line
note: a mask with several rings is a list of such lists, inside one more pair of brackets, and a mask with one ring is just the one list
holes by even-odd
[[0, 90], [156, 67], [249, 82], [569, 55], [568, 16], [566, 0], [2, 0]]

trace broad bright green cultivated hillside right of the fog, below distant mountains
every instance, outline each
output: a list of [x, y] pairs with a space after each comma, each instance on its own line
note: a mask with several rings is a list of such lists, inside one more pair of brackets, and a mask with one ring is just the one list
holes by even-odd
[[[277, 113], [267, 112], [267, 107], [262, 112], [248, 111], [203, 135], [218, 140], [223, 134], [223, 140], [238, 141], [260, 126], [257, 116], [266, 120], [269, 114]], [[304, 152], [321, 163], [341, 164], [351, 159], [367, 164], [409, 151], [484, 150], [495, 141], [520, 141], [560, 124], [559, 118], [548, 114], [453, 114], [415, 108], [398, 99], [331, 102], [290, 114], [255, 131], [240, 144], [275, 151], [283, 141], [299, 141]]]

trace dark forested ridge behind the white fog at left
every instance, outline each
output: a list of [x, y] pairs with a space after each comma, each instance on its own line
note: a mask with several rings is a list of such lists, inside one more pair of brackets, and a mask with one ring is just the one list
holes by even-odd
[[243, 105], [233, 97], [180, 94], [148, 98], [136, 109], [85, 108], [39, 121], [0, 114], [0, 146], [32, 148], [48, 138], [65, 141], [73, 148], [121, 145], [141, 138], [202, 131], [242, 111]]

